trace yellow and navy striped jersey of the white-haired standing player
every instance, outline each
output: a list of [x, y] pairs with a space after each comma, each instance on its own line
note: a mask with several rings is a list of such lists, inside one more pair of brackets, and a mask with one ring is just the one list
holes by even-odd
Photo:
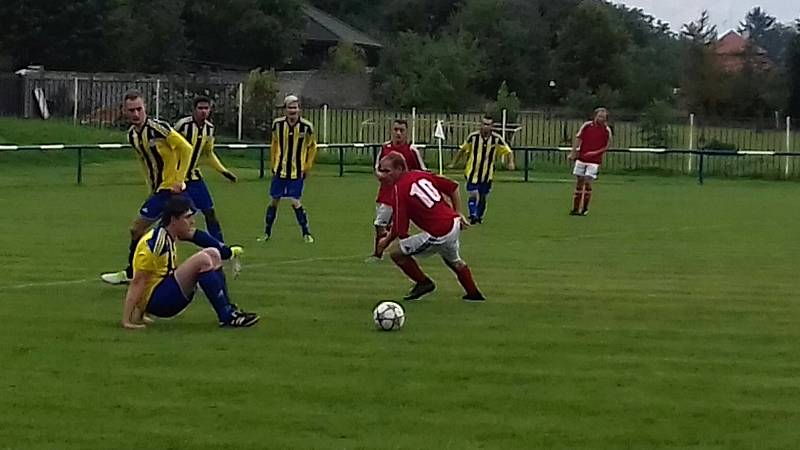
[[275, 119], [272, 122], [270, 157], [274, 176], [302, 179], [303, 172], [311, 170], [317, 157], [317, 137], [311, 122], [301, 117], [290, 125], [286, 117]]

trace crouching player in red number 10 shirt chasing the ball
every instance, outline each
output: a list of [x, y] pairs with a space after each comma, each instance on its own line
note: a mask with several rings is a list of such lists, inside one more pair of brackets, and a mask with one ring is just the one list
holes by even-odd
[[[418, 170], [409, 171], [405, 158], [396, 152], [381, 158], [378, 173], [382, 180], [394, 185], [394, 222], [388, 235], [378, 242], [385, 250], [396, 238], [389, 254], [416, 285], [404, 297], [415, 300], [436, 289], [436, 285], [420, 269], [414, 255], [438, 253], [447, 267], [455, 272], [466, 294], [462, 299], [470, 302], [486, 300], [475, 286], [472, 272], [459, 255], [461, 228], [468, 226], [457, 211], [461, 209], [458, 183], [445, 177]], [[408, 235], [410, 222], [421, 230]]]

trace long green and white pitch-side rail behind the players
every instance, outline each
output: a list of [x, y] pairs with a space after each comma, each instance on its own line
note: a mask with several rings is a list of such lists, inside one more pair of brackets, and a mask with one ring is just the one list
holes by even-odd
[[[326, 149], [330, 153], [335, 153], [338, 156], [339, 176], [344, 176], [345, 173], [345, 157], [348, 152], [359, 152], [362, 156], [364, 153], [371, 153], [371, 158], [374, 161], [380, 151], [382, 144], [318, 144], [318, 148]], [[423, 150], [425, 153], [432, 151], [456, 151], [459, 149], [457, 145], [436, 145], [436, 144], [415, 144], [415, 146]], [[267, 170], [267, 152], [269, 144], [245, 144], [245, 143], [232, 143], [232, 144], [216, 144], [215, 148], [218, 149], [234, 149], [234, 150], [253, 150], [259, 152], [259, 178], [264, 178]], [[130, 149], [128, 144], [45, 144], [45, 145], [3, 145], [0, 144], [0, 152], [12, 151], [75, 151], [76, 152], [76, 182], [81, 184], [83, 182], [83, 152], [84, 150], [119, 150]], [[533, 170], [532, 155], [536, 153], [561, 153], [562, 157], [571, 150], [570, 147], [514, 147], [516, 155], [523, 154], [522, 158], [522, 179], [529, 181], [530, 172]], [[793, 158], [800, 157], [800, 153], [792, 152], [773, 152], [773, 151], [755, 151], [755, 150], [687, 150], [687, 149], [669, 149], [669, 148], [617, 148], [610, 149], [610, 153], [615, 154], [652, 154], [652, 155], [691, 155], [693, 161], [688, 168], [688, 172], [696, 172], [697, 181], [703, 184], [706, 172], [706, 166], [709, 160], [714, 158], [732, 158], [742, 156], [760, 156], [769, 158], [778, 158], [780, 165], [783, 168], [784, 178], [790, 177], [790, 167], [797, 166], [800, 163], [795, 160], [794, 164], [791, 163]], [[517, 156], [519, 161], [519, 156]], [[519, 162], [517, 163], [519, 167]]]

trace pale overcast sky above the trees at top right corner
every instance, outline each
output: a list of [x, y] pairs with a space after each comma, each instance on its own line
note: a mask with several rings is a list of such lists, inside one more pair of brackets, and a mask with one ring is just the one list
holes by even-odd
[[785, 24], [800, 18], [800, 0], [614, 0], [614, 3], [642, 8], [646, 13], [669, 22], [673, 31], [680, 31], [684, 23], [697, 20], [704, 9], [708, 10], [720, 34], [735, 29], [755, 6], [760, 6]]

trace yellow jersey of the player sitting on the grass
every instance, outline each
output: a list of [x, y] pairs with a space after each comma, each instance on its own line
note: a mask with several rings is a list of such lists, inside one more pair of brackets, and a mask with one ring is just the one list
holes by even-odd
[[175, 271], [175, 241], [169, 236], [164, 227], [156, 227], [148, 231], [136, 245], [133, 254], [133, 272], [147, 272], [150, 279], [147, 281], [141, 304], [138, 306], [144, 311], [153, 295], [153, 291], [164, 278]]

